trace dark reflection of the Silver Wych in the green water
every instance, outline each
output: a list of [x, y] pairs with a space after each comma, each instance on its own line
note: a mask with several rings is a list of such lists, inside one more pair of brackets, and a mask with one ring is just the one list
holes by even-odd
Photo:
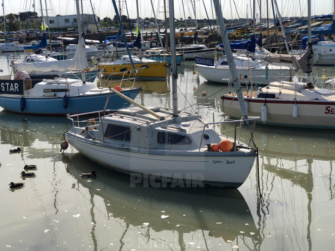
[[[237, 189], [131, 188], [128, 176], [89, 162], [80, 153], [70, 158], [67, 171], [77, 182], [72, 188], [88, 189], [92, 222], [96, 210], [106, 210], [109, 220], [119, 222], [123, 232], [113, 237], [119, 240], [120, 250], [124, 247], [150, 248], [150, 245], [152, 248], [174, 246], [173, 249], [181, 250], [200, 246], [208, 250], [222, 243], [229, 248], [238, 243], [240, 247], [253, 250], [259, 245], [259, 230]], [[92, 166], [98, 177], [82, 179], [79, 173], [91, 172]], [[103, 199], [104, 208], [95, 205], [96, 196]], [[98, 230], [95, 228], [94, 224], [89, 231], [97, 245], [94, 233]]]

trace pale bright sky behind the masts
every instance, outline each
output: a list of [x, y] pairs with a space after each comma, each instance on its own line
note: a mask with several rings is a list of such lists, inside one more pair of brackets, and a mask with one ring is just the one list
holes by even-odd
[[[32, 4], [34, 0], [3, 0], [5, 5], [5, 15], [9, 13], [18, 13], [34, 11]], [[40, 1], [35, 0], [35, 9], [38, 15], [41, 15], [41, 7]], [[83, 0], [83, 9], [84, 13], [92, 13], [91, 3], [94, 7], [94, 13], [99, 16], [101, 19], [104, 17], [113, 18], [115, 15], [115, 11], [112, 5], [112, 1], [110, 0]], [[193, 4], [194, 0], [174, 0], [174, 10], [175, 10], [175, 18], [183, 18], [184, 19], [184, 11], [183, 5], [185, 9], [185, 16], [188, 18], [189, 16], [194, 19], [194, 11]], [[226, 19], [231, 18], [250, 18], [251, 17], [251, 2], [252, 0], [219, 0], [221, 1], [221, 6], [223, 11], [223, 17]], [[48, 5], [48, 15], [56, 16], [60, 15], [71, 15], [75, 14], [75, 1], [74, 0], [42, 0], [43, 5], [43, 13], [46, 15], [46, 7], [45, 2]], [[119, 6], [119, 1], [116, 0], [117, 6]], [[154, 5], [154, 11], [156, 17], [158, 19], [164, 18], [164, 8], [163, 8], [163, 0], [152, 0]], [[168, 0], [166, 0], [168, 2]], [[268, 1], [271, 2], [270, 0]], [[153, 17], [153, 11], [151, 8], [150, 0], [138, 0], [139, 3], [139, 16], [141, 18], [145, 17]], [[206, 12], [204, 8], [204, 3], [206, 6], [206, 10], [208, 12], [209, 18], [212, 19], [212, 10], [211, 10], [211, 1], [210, 0], [196, 0], [196, 17], [197, 19], [203, 19], [206, 17]], [[235, 3], [235, 4], [234, 4]], [[307, 0], [277, 0], [279, 11], [282, 16], [307, 16]], [[79, 1], [79, 5], [80, 5]], [[122, 14], [127, 15], [126, 12], [126, 4], [128, 7], [128, 13], [130, 18], [137, 17], [136, 11], [136, 0], [121, 0], [121, 9]], [[262, 0], [262, 17], [266, 17], [266, 0]], [[284, 6], [284, 8], [282, 7]], [[256, 0], [256, 12], [259, 12], [259, 0]], [[166, 6], [166, 10], [168, 11], [168, 7]], [[213, 8], [214, 11], [214, 8]], [[269, 6], [269, 18], [273, 18], [272, 9]], [[321, 14], [330, 14], [333, 12], [333, 1], [332, 0], [312, 0], [312, 15], [321, 15]], [[168, 16], [168, 14], [167, 14]], [[215, 16], [215, 11], [214, 11]]]

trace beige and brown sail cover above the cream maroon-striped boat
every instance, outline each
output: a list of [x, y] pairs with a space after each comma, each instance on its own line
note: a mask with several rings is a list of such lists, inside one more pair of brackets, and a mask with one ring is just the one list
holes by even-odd
[[303, 73], [310, 73], [312, 72], [314, 61], [313, 55], [312, 45], [309, 45], [308, 50], [300, 56], [271, 53], [266, 55], [263, 60], [278, 63], [293, 63], [296, 69], [301, 69]]

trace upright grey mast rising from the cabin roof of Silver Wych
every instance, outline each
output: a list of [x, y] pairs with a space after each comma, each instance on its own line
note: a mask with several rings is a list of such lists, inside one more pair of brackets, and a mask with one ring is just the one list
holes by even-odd
[[178, 95], [177, 95], [178, 74], [177, 74], [177, 61], [176, 61], [175, 12], [174, 12], [173, 7], [174, 7], [173, 0], [169, 0], [171, 73], [172, 73], [172, 106], [173, 106], [173, 116], [178, 117]]

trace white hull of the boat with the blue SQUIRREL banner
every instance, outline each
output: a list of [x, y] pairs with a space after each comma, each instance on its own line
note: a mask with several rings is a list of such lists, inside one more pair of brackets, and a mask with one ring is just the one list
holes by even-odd
[[[206, 80], [212, 83], [229, 83], [231, 82], [231, 74], [229, 71], [229, 67], [215, 67], [215, 66], [205, 66], [205, 65], [193, 65], [194, 70]], [[271, 74], [271, 70], [269, 71], [268, 78], [266, 79], [265, 70], [264, 69], [251, 69], [248, 67], [236, 67], [238, 76], [242, 75], [241, 84], [247, 83], [249, 85], [250, 80], [250, 72], [252, 73], [252, 81], [253, 85], [262, 84], [267, 85], [269, 82], [278, 81], [279, 79], [289, 81], [291, 77], [291, 71], [288, 69], [275, 70], [274, 72], [280, 76], [273, 76]], [[247, 76], [245, 79], [244, 76]], [[224, 79], [224, 80], [223, 80]]]

